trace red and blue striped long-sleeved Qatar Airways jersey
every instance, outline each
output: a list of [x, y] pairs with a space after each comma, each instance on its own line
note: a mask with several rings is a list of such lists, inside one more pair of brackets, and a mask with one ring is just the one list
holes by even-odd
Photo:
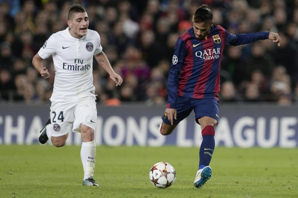
[[190, 28], [176, 42], [168, 76], [167, 108], [176, 108], [177, 96], [218, 99], [224, 46], [248, 44], [268, 37], [269, 32], [230, 34], [222, 26], [214, 25], [207, 39], [197, 40]]

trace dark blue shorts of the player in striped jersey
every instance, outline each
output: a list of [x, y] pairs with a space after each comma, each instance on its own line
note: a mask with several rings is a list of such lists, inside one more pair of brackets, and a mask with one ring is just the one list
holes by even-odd
[[[198, 123], [198, 119], [204, 116], [213, 118], [219, 122], [220, 108], [217, 99], [196, 99], [178, 96], [176, 101], [177, 120], [174, 119], [173, 124], [178, 124], [180, 121], [190, 115], [192, 110], [195, 113], [195, 121]], [[171, 125], [168, 118], [161, 117], [162, 121]], [[199, 123], [198, 123], [199, 124]]]

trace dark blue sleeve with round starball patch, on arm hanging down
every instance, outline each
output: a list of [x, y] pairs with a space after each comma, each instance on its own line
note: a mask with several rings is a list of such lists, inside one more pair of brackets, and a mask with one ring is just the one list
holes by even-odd
[[177, 99], [177, 87], [179, 82], [179, 74], [184, 62], [187, 49], [185, 47], [185, 42], [178, 38], [174, 55], [172, 58], [172, 65], [169, 70], [168, 76], [168, 101], [167, 108], [176, 109], [176, 99]]

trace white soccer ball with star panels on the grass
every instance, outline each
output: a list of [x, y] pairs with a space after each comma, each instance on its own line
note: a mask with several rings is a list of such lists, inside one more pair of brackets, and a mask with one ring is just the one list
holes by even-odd
[[167, 188], [176, 180], [176, 171], [167, 162], [158, 162], [149, 171], [149, 179], [153, 186], [157, 188]]

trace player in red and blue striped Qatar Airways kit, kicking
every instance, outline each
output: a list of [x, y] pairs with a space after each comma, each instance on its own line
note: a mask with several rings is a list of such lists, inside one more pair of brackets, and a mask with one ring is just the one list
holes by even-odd
[[230, 34], [223, 27], [214, 25], [213, 13], [206, 4], [197, 8], [192, 22], [193, 27], [176, 42], [168, 76], [168, 101], [159, 130], [162, 135], [170, 134], [194, 111], [203, 136], [194, 186], [202, 188], [212, 175], [209, 164], [220, 116], [220, 66], [224, 46], [265, 39], [280, 46], [281, 38], [272, 32]]

